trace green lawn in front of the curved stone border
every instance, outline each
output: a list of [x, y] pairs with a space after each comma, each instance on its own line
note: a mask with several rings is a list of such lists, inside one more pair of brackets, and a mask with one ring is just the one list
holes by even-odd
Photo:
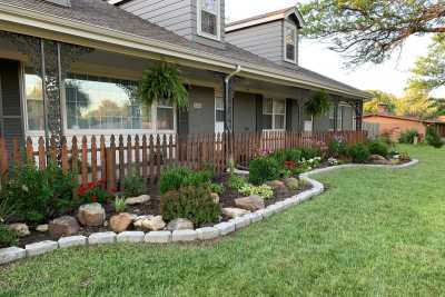
[[0, 296], [438, 296], [445, 150], [402, 170], [320, 175], [329, 190], [218, 242], [59, 250], [0, 268]]

